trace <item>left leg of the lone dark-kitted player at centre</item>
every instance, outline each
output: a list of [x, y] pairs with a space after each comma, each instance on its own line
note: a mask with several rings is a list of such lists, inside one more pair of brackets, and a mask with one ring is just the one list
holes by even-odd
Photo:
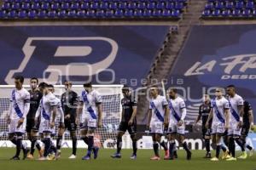
[[128, 123], [120, 122], [119, 124], [119, 130], [116, 136], [116, 153], [113, 154], [113, 158], [121, 158], [121, 149], [122, 149], [122, 137], [125, 134], [126, 130], [128, 129]]

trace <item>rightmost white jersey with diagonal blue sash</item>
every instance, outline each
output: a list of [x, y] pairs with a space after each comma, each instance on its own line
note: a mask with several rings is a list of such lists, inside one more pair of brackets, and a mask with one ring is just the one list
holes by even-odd
[[243, 99], [240, 95], [235, 94], [233, 98], [229, 97], [230, 102], [230, 123], [240, 121], [239, 106], [243, 105]]

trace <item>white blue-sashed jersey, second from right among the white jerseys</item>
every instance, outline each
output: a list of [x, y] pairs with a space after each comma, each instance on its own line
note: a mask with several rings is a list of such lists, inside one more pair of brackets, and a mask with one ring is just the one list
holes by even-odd
[[212, 123], [224, 123], [226, 119], [224, 111], [230, 109], [229, 101], [223, 96], [220, 99], [216, 97], [211, 100], [211, 108], [213, 110]]

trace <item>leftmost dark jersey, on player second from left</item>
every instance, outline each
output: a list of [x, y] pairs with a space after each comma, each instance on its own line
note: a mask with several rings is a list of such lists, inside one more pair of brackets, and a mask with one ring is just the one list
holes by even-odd
[[43, 94], [39, 90], [32, 92], [32, 90], [28, 90], [30, 94], [30, 108], [26, 115], [26, 119], [35, 119], [36, 112], [38, 111], [38, 106], [40, 104], [40, 100], [43, 97]]

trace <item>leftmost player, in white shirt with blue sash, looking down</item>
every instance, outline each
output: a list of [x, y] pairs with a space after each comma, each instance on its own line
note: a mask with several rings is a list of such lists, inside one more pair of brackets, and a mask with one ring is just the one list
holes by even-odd
[[22, 137], [26, 130], [26, 115], [30, 106], [30, 94], [23, 88], [24, 77], [15, 77], [15, 89], [12, 91], [9, 105], [9, 140], [16, 145], [16, 154], [11, 159], [20, 160], [20, 150], [23, 150], [24, 156], [28, 150], [22, 144]]

